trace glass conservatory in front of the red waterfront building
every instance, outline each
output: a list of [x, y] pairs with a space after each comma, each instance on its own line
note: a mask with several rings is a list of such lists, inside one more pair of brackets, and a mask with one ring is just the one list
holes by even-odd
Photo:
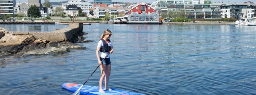
[[137, 12], [133, 12], [129, 15], [129, 21], [159, 21], [159, 15], [155, 12], [152, 12], [151, 14], [145, 12], [138, 14]]

